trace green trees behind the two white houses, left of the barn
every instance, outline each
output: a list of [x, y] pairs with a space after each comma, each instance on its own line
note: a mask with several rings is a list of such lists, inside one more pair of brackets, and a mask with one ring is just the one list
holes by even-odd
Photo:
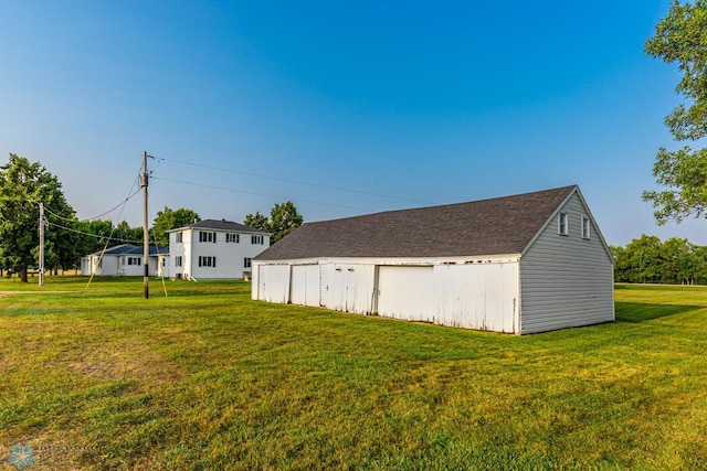
[[[143, 244], [143, 227], [130, 227], [123, 221], [78, 221], [62, 191], [62, 183], [40, 162], [10, 154], [0, 165], [0, 275], [17, 274], [28, 280], [31, 267], [39, 267], [39, 214], [45, 208], [44, 266], [48, 270], [73, 269], [85, 255], [106, 245]], [[201, 217], [188, 208], [165, 207], [157, 213], [149, 229], [150, 243], [169, 244], [168, 231], [190, 225]], [[295, 205], [288, 201], [276, 204], [271, 217], [249, 214], [244, 224], [272, 233], [271, 243], [278, 240], [303, 222]]]

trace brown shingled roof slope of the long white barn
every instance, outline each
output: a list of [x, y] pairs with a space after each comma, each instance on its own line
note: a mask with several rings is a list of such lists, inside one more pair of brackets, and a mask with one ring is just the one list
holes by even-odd
[[576, 189], [305, 223], [254, 259], [520, 254]]

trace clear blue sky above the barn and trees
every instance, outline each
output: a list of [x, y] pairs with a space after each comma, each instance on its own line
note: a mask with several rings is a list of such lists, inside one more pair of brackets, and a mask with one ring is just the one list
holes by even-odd
[[[42, 162], [81, 218], [306, 221], [579, 184], [610, 244], [655, 225], [680, 98], [643, 43], [668, 0], [0, 2], [0, 161]], [[306, 184], [303, 184], [306, 183]], [[141, 222], [141, 201], [104, 217]]]

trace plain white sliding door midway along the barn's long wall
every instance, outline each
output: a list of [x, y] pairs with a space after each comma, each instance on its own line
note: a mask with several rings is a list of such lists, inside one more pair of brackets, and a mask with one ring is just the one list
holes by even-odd
[[433, 322], [433, 269], [425, 266], [381, 266], [378, 271], [378, 314]]

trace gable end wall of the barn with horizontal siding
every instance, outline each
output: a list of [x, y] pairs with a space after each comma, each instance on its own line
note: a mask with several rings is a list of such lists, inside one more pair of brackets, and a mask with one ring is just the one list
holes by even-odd
[[[560, 210], [569, 215], [568, 235], [557, 216], [520, 259], [521, 333], [614, 320], [613, 265], [588, 210], [574, 193]], [[581, 218], [591, 236], [582, 238]]]

